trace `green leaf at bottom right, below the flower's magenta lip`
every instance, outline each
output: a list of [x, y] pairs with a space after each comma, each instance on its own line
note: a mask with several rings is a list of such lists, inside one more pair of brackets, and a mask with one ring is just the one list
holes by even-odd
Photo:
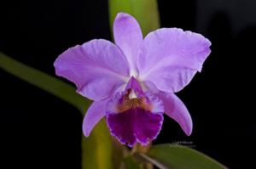
[[141, 156], [161, 169], [227, 169], [211, 157], [177, 144], [154, 145]]

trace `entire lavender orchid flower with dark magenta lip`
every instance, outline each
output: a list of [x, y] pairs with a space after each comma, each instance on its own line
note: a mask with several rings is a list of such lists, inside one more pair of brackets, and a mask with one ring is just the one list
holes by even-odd
[[201, 71], [211, 42], [177, 28], [152, 31], [143, 39], [137, 20], [124, 13], [114, 20], [113, 37], [115, 44], [91, 40], [55, 60], [56, 75], [94, 101], [84, 116], [84, 135], [106, 117], [120, 143], [146, 145], [159, 134], [164, 113], [190, 135], [189, 111], [174, 93]]

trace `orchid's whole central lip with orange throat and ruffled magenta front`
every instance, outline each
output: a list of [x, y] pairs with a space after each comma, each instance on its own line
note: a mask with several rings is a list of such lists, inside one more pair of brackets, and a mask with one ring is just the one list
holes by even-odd
[[143, 89], [134, 77], [107, 104], [107, 121], [110, 132], [122, 144], [133, 146], [137, 142], [148, 144], [160, 132], [163, 121], [163, 104]]

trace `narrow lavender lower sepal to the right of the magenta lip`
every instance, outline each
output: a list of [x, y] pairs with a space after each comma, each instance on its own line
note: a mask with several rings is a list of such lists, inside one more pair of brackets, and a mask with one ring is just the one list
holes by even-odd
[[165, 106], [165, 113], [178, 122], [183, 131], [189, 136], [192, 132], [193, 124], [189, 111], [183, 102], [174, 93], [156, 94]]

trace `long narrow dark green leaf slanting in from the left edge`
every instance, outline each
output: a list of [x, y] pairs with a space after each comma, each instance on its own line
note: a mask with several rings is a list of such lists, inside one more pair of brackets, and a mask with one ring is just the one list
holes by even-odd
[[84, 99], [84, 97], [76, 93], [75, 88], [68, 85], [66, 82], [62, 82], [61, 80], [53, 76], [49, 76], [40, 70], [24, 65], [1, 52], [0, 68], [23, 81], [29, 82], [32, 85], [63, 99], [67, 103], [78, 108], [82, 113], [84, 113], [90, 105], [90, 101], [88, 99]]

